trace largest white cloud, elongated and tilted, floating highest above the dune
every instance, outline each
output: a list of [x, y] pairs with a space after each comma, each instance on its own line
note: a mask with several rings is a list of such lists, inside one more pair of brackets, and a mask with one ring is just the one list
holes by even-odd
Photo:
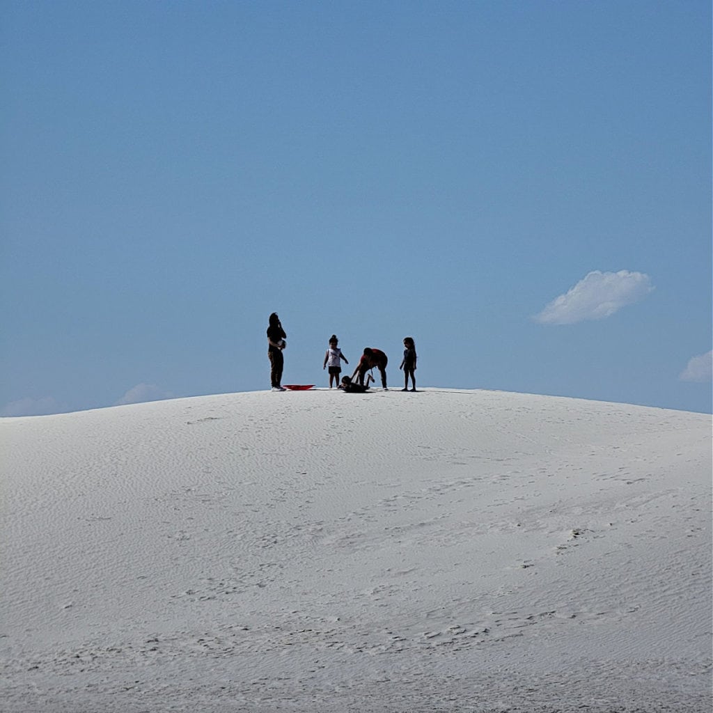
[[566, 294], [553, 299], [533, 319], [540, 324], [576, 324], [611, 317], [627, 304], [646, 297], [654, 287], [643, 272], [590, 272]]

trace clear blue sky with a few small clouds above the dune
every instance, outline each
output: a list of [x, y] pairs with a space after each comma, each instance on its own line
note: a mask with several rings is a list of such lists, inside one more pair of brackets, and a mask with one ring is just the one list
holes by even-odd
[[709, 2], [0, 13], [2, 415], [267, 389], [273, 311], [284, 383], [711, 410]]

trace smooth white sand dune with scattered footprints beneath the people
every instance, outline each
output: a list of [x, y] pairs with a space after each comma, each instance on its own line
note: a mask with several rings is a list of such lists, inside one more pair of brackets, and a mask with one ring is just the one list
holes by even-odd
[[710, 416], [319, 389], [0, 434], [3, 711], [711, 709]]

